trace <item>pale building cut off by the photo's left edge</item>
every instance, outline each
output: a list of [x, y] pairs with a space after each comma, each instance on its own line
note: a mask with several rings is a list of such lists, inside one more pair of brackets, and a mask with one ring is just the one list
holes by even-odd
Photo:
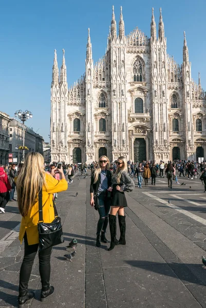
[[9, 162], [9, 115], [0, 111], [0, 165]]

